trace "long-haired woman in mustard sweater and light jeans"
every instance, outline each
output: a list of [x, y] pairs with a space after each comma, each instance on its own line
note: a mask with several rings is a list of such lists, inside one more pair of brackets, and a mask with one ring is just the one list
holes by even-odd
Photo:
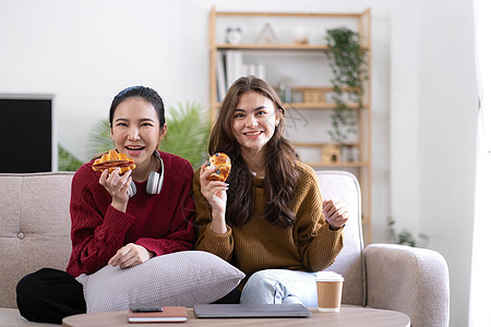
[[315, 271], [343, 249], [348, 213], [343, 203], [322, 199], [315, 172], [297, 159], [284, 131], [274, 89], [254, 76], [237, 80], [208, 148], [230, 157], [230, 175], [208, 181], [214, 169], [206, 164], [194, 173], [195, 246], [246, 272], [241, 303], [316, 306]]

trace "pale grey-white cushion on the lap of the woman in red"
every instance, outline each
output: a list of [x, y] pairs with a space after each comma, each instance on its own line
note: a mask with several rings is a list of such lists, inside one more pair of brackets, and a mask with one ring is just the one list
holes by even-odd
[[124, 311], [130, 304], [191, 307], [211, 303], [228, 294], [244, 277], [212, 253], [183, 251], [125, 269], [106, 266], [76, 279], [84, 286], [87, 313], [93, 313]]

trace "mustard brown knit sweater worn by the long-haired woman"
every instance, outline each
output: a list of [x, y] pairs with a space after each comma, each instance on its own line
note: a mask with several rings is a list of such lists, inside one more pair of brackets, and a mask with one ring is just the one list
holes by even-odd
[[200, 190], [200, 171], [194, 173], [196, 250], [207, 251], [231, 263], [248, 277], [262, 269], [320, 271], [334, 263], [343, 249], [343, 229], [333, 231], [322, 214], [322, 195], [312, 168], [299, 164], [298, 191], [289, 204], [297, 220], [284, 228], [261, 218], [265, 196], [263, 179], [254, 179], [255, 208], [242, 227], [215, 233], [209, 228], [211, 208]]

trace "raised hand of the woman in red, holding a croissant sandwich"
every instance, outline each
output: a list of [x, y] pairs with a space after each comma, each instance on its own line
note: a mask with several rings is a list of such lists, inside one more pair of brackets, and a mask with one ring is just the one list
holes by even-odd
[[112, 196], [111, 206], [122, 213], [127, 211], [128, 201], [130, 199], [127, 191], [132, 181], [132, 178], [130, 177], [131, 171], [132, 170], [129, 170], [123, 175], [120, 175], [120, 168], [115, 169], [110, 174], [106, 169], [99, 178], [99, 184]]

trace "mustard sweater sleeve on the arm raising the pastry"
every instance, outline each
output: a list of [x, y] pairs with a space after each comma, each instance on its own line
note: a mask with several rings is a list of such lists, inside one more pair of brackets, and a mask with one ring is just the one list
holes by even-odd
[[226, 262], [230, 262], [233, 254], [233, 238], [230, 226], [227, 232], [215, 233], [211, 229], [212, 213], [208, 202], [201, 193], [200, 170], [194, 172], [193, 178], [194, 204], [196, 206], [195, 229], [197, 233], [196, 250], [211, 252]]

